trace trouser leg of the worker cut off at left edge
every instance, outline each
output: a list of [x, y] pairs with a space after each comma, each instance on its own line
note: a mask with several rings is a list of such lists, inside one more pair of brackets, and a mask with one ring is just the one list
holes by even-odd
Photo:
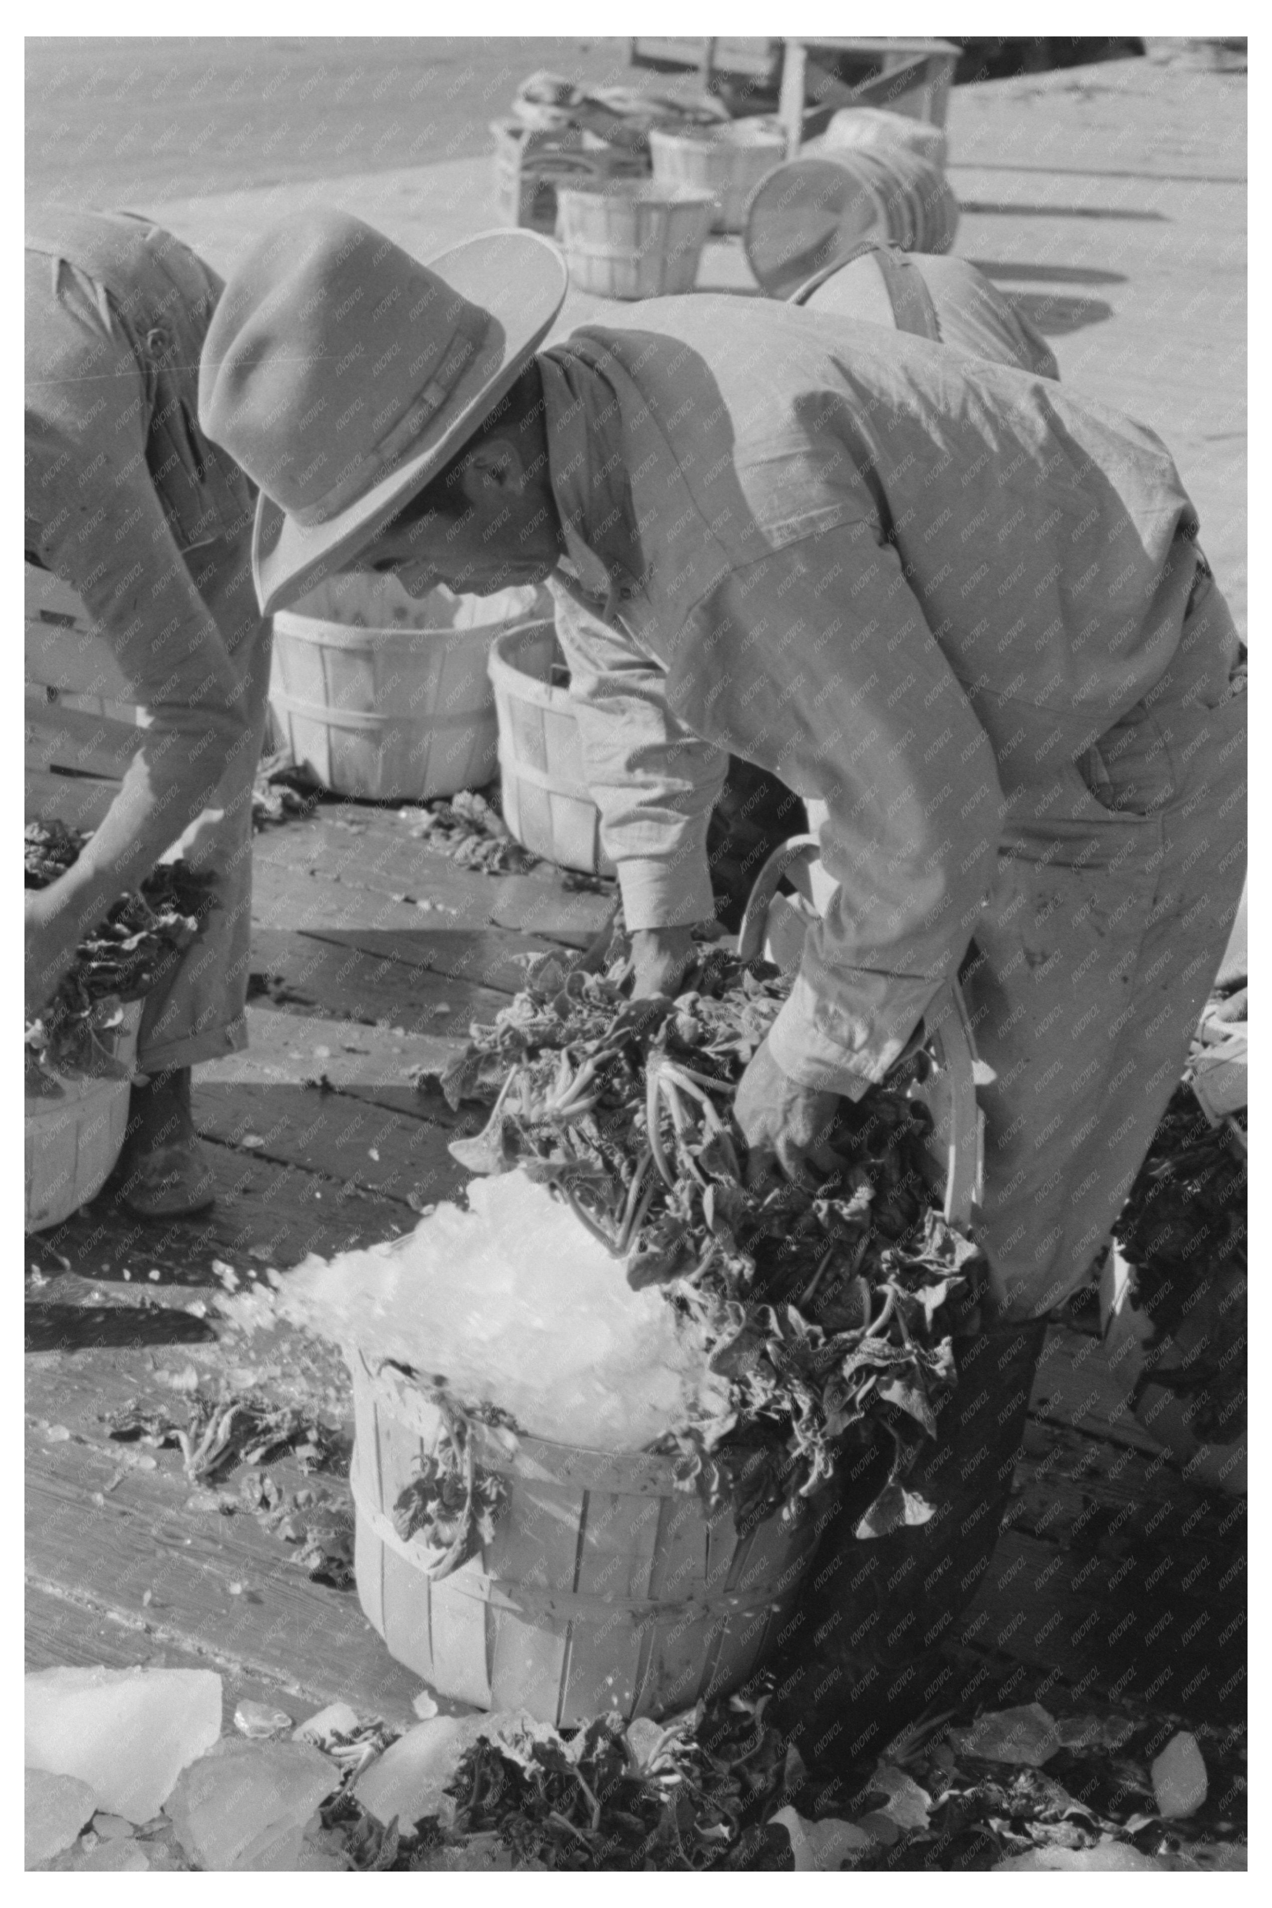
[[215, 906], [147, 994], [137, 1044], [143, 1072], [219, 1059], [248, 1040], [252, 784], [265, 735], [271, 626], [256, 607], [250, 534], [191, 550], [185, 561], [238, 666], [242, 725], [215, 809], [181, 838], [189, 864], [212, 876]]

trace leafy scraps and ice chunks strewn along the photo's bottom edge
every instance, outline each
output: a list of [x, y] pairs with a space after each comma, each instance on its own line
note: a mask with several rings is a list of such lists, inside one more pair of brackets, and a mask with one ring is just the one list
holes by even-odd
[[[267, 1853], [277, 1837], [297, 1837], [290, 1866], [301, 1870], [1245, 1868], [1243, 1731], [1177, 1731], [1156, 1715], [1053, 1717], [1032, 1704], [946, 1719], [927, 1734], [910, 1731], [891, 1759], [828, 1790], [767, 1725], [763, 1696], [732, 1696], [666, 1723], [597, 1717], [574, 1731], [517, 1711], [441, 1717], [402, 1734], [332, 1704], [286, 1736], [290, 1717], [267, 1717], [267, 1738], [265, 1706], [246, 1710], [259, 1734], [217, 1742], [181, 1774], [164, 1815], [133, 1826], [97, 1813], [71, 1847], [34, 1866], [206, 1866], [198, 1851], [242, 1839], [235, 1797], [294, 1755], [303, 1839], [301, 1811], [284, 1820], [282, 1797], [278, 1824], [265, 1809], [254, 1845]], [[406, 1782], [385, 1792], [395, 1805], [383, 1820], [360, 1792], [376, 1797], [368, 1771], [387, 1750], [400, 1763], [397, 1744], [418, 1744], [420, 1815], [408, 1753]], [[322, 1790], [315, 1752], [330, 1763], [330, 1788], [311, 1815]], [[225, 1755], [233, 1771], [217, 1767]], [[1154, 1782], [1167, 1780], [1163, 1807]], [[97, 1856], [107, 1843], [126, 1847]], [[233, 1866], [265, 1860], [236, 1856]]]

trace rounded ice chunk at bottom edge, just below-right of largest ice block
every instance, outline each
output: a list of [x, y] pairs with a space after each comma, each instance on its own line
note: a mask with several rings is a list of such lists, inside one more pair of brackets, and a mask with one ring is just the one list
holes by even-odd
[[296, 1868], [318, 1803], [339, 1769], [307, 1742], [225, 1736], [177, 1780], [164, 1815], [200, 1868]]

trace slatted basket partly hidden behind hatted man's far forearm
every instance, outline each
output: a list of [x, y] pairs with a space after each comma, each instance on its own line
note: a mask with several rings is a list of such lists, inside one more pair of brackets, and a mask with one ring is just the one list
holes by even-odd
[[601, 811], [587, 790], [584, 742], [551, 624], [507, 630], [490, 645], [500, 725], [500, 799], [509, 832], [532, 855], [582, 874], [612, 874]]

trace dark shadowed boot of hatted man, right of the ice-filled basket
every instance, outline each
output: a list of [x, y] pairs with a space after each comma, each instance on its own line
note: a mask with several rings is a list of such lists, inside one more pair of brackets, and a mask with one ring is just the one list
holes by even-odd
[[873, 1475], [849, 1479], [774, 1666], [769, 1706], [810, 1769], [877, 1753], [952, 1694], [940, 1645], [994, 1555], [1043, 1334], [1034, 1320], [954, 1339], [957, 1387], [906, 1479], [936, 1505], [929, 1523], [852, 1536], [887, 1458]]

